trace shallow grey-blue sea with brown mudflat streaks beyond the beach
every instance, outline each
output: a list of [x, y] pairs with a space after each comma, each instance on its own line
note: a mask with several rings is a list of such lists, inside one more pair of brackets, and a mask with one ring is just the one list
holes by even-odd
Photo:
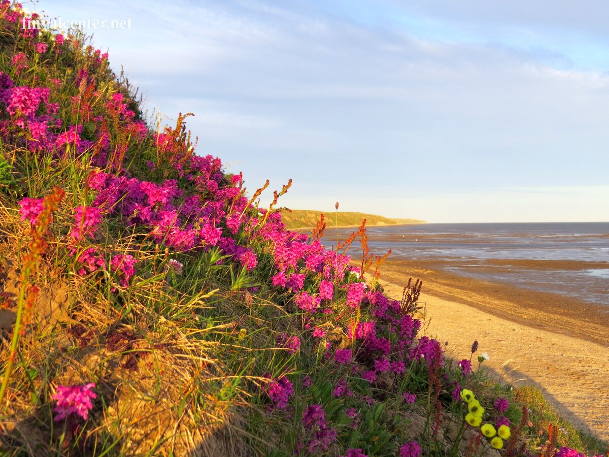
[[[351, 232], [339, 229], [339, 238]], [[432, 261], [459, 275], [609, 308], [609, 222], [393, 225], [367, 234], [371, 252], [392, 250], [389, 260]], [[325, 243], [336, 244], [335, 235], [327, 228]]]

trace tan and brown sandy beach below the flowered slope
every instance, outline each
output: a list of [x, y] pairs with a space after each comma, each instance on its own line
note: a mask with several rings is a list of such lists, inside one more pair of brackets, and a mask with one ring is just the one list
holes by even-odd
[[602, 306], [462, 278], [421, 262], [391, 261], [381, 272], [381, 285], [395, 299], [409, 277], [423, 278], [421, 331], [448, 341], [446, 355], [470, 358], [477, 340], [496, 377], [541, 388], [566, 419], [609, 439], [609, 313]]

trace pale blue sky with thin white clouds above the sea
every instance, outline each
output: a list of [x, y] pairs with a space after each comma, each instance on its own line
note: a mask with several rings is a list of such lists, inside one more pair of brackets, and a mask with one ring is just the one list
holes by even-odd
[[605, 0], [41, 0], [197, 154], [280, 205], [429, 222], [609, 221]]

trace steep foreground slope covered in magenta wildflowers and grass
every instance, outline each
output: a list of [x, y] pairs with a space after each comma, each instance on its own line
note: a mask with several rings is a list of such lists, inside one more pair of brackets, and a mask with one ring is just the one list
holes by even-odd
[[364, 224], [290, 232], [289, 185], [257, 207], [186, 116], [149, 130], [107, 55], [31, 19], [0, 3], [2, 455], [577, 455], [476, 347], [418, 335], [420, 283], [364, 282]]

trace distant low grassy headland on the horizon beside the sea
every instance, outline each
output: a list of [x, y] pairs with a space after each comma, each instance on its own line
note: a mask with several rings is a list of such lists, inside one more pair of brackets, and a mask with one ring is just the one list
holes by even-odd
[[[315, 227], [323, 211], [314, 210], [283, 210], [281, 220], [289, 230], [302, 227]], [[340, 227], [359, 227], [366, 219], [366, 225], [398, 225], [398, 224], [421, 224], [424, 221], [417, 219], [391, 219], [376, 214], [353, 213], [347, 211], [328, 211], [323, 213], [328, 225], [335, 224]], [[338, 222], [337, 222], [338, 221]]]

